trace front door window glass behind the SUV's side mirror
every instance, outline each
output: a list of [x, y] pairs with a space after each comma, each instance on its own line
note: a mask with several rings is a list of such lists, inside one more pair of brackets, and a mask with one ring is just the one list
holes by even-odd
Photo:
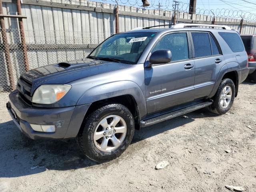
[[152, 53], [159, 49], [169, 49], [172, 61], [188, 59], [188, 38], [186, 33], [172, 33], [160, 39], [152, 49]]

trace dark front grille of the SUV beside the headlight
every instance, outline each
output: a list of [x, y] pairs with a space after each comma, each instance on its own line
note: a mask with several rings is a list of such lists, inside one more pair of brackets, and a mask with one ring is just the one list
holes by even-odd
[[19, 98], [29, 106], [32, 106], [31, 87], [32, 87], [32, 82], [29, 82], [25, 78], [20, 77], [17, 83]]

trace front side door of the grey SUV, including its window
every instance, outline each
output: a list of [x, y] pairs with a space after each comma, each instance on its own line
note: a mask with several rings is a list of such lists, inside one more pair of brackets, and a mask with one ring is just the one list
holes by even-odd
[[194, 100], [195, 67], [187, 32], [164, 35], [152, 49], [169, 49], [172, 62], [145, 68], [148, 114]]

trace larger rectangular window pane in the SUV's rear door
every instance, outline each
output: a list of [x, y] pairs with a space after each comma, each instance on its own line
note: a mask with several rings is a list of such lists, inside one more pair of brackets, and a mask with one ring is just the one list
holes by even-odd
[[211, 56], [212, 49], [208, 33], [192, 32], [195, 57]]

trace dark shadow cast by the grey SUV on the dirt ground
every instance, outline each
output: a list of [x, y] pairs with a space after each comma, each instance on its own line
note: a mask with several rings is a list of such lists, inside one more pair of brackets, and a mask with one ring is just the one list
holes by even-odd
[[[180, 116], [136, 130], [131, 145], [188, 124], [196, 118], [215, 115], [206, 109], [201, 109], [186, 114], [186, 116], [188, 118]], [[0, 164], [2, 164], [0, 175], [2, 177], [18, 177], [46, 170], [74, 170], [99, 165], [80, 152], [75, 139], [30, 140], [16, 128], [12, 121], [1, 123], [0, 130], [4, 133], [0, 135], [2, 141], [0, 146]], [[111, 162], [109, 163], [111, 164]]]

